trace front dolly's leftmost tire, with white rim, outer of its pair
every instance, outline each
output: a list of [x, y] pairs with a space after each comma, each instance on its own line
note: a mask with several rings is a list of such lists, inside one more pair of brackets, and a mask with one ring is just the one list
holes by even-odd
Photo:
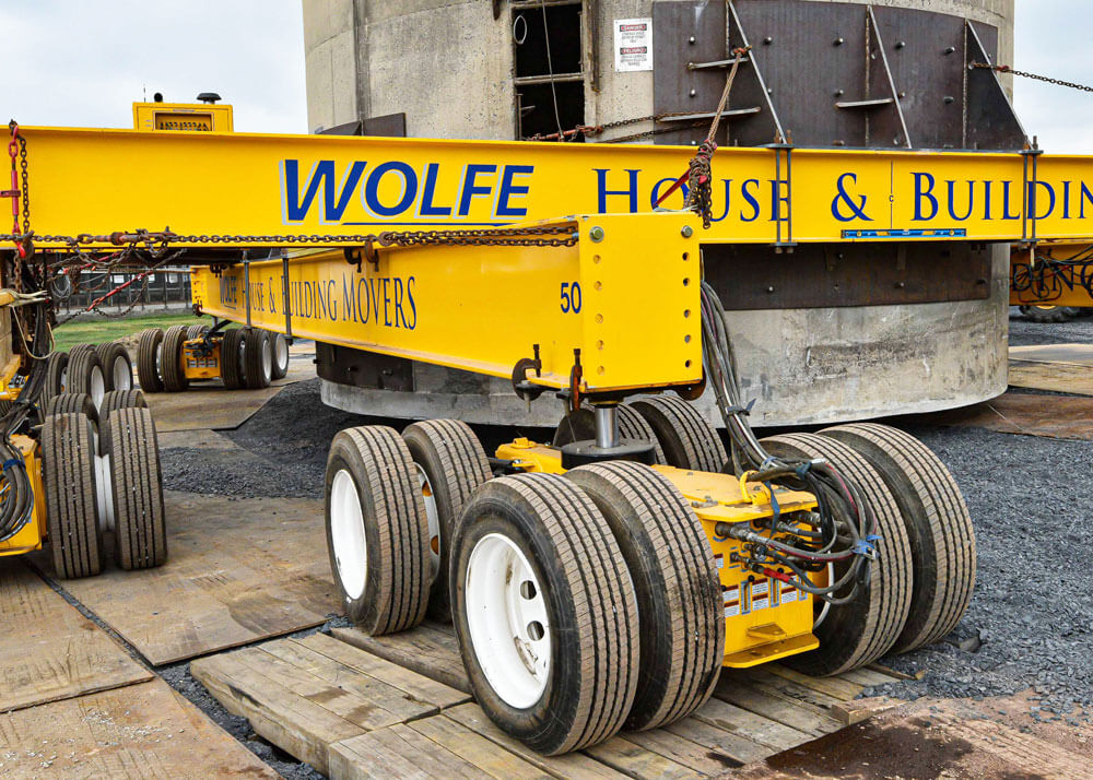
[[428, 604], [428, 522], [413, 461], [393, 428], [346, 428], [327, 458], [330, 569], [350, 619], [371, 636], [421, 623]]

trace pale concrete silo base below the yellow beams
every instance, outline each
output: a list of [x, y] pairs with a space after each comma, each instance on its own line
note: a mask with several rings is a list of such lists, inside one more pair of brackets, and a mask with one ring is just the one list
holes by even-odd
[[[1006, 391], [1009, 250], [992, 248], [990, 296], [901, 306], [730, 311], [726, 318], [745, 402], [757, 427], [933, 412]], [[562, 401], [528, 404], [503, 379], [414, 364], [413, 391], [322, 380], [324, 403], [407, 419], [553, 427]], [[710, 393], [697, 401], [720, 425]]]

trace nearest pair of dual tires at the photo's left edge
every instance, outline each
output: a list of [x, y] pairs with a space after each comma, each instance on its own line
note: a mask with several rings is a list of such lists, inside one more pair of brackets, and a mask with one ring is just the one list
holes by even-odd
[[91, 577], [106, 558], [146, 569], [167, 559], [163, 477], [155, 424], [140, 390], [111, 390], [96, 405], [64, 392], [43, 406], [40, 457], [54, 568]]

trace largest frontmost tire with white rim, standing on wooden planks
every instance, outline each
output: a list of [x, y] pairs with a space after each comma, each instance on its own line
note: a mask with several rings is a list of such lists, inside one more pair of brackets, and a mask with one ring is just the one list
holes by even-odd
[[544, 755], [610, 738], [630, 714], [637, 599], [599, 509], [559, 474], [491, 480], [456, 524], [449, 571], [480, 707]]

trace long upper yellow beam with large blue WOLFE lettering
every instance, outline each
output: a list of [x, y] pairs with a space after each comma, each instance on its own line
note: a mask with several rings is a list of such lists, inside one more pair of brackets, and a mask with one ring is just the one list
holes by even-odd
[[[648, 212], [683, 146], [24, 128], [39, 235], [286, 234]], [[791, 161], [791, 162], [790, 162]], [[722, 149], [706, 243], [1093, 237], [1093, 157]], [[683, 206], [678, 191], [663, 204]], [[240, 238], [260, 236], [260, 239]], [[54, 245], [57, 243], [55, 241]], [[42, 243], [39, 246], [49, 246]]]

